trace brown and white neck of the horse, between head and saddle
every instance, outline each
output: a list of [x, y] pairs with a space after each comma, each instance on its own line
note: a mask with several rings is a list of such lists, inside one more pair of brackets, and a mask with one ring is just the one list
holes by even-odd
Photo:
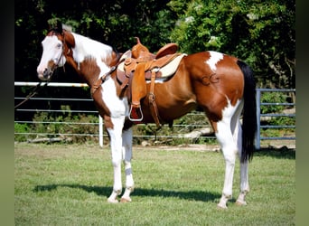
[[106, 44], [91, 40], [77, 33], [67, 33], [67, 62], [83, 80], [92, 87], [97, 80], [109, 71], [117, 54]]

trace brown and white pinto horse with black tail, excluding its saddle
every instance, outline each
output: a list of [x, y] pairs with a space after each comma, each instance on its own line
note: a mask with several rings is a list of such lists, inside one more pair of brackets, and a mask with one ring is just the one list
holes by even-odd
[[[113, 190], [108, 202], [119, 202], [122, 193], [121, 164], [125, 165], [126, 189], [120, 202], [131, 202], [132, 126], [128, 119], [127, 89], [117, 80], [115, 68], [120, 55], [111, 46], [72, 33], [58, 24], [42, 41], [42, 59], [37, 67], [41, 80], [70, 64], [87, 81], [94, 103], [104, 119], [110, 138]], [[147, 85], [150, 89], [150, 84]], [[248, 161], [254, 152], [257, 129], [255, 81], [248, 65], [220, 52], [198, 52], [183, 57], [173, 78], [155, 82], [155, 102], [162, 123], [171, 122], [200, 107], [211, 122], [225, 159], [225, 177], [218, 206], [227, 208], [232, 197], [236, 158], [240, 161], [240, 193], [237, 203], [245, 205], [249, 192]], [[143, 123], [154, 123], [149, 102], [142, 99]], [[240, 116], [243, 115], [242, 125]]]

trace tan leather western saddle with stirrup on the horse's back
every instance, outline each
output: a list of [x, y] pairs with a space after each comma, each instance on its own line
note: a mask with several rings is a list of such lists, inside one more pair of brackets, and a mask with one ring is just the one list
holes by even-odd
[[[176, 65], [173, 65], [173, 73], [176, 71], [182, 53], [176, 53], [178, 45], [168, 43], [164, 45], [156, 54], [149, 52], [139, 38], [136, 37], [137, 44], [133, 46], [125, 60], [119, 64], [117, 69], [117, 80], [121, 83], [122, 89], [128, 88], [128, 100], [130, 102], [129, 119], [136, 123], [143, 121], [143, 112], [140, 101], [147, 96], [146, 80], [150, 80], [150, 90], [148, 92], [149, 107], [152, 117], [157, 127], [161, 127], [158, 108], [155, 103], [155, 79], [162, 78], [164, 73], [160, 71], [168, 64], [179, 57]], [[124, 54], [126, 55], [126, 53]]]

